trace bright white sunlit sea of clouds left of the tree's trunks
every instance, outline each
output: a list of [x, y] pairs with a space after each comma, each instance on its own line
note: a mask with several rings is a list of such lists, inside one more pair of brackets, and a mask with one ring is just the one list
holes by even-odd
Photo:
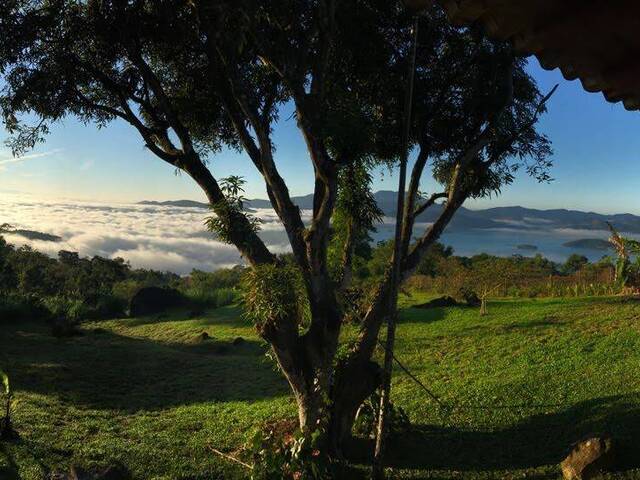
[[[210, 215], [201, 208], [0, 197], [0, 224], [62, 238], [47, 242], [5, 234], [9, 243], [30, 245], [51, 256], [59, 250], [71, 250], [83, 256], [122, 257], [134, 268], [178, 274], [243, 263], [234, 246], [217, 241], [206, 231], [204, 220]], [[262, 219], [260, 235], [270, 249], [288, 251], [288, 240], [275, 212], [258, 209], [254, 215]]]

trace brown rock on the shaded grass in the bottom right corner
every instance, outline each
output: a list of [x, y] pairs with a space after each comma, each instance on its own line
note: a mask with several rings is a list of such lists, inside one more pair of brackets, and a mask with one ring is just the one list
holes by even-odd
[[589, 436], [573, 445], [560, 464], [565, 480], [589, 480], [613, 468], [613, 440], [608, 436]]

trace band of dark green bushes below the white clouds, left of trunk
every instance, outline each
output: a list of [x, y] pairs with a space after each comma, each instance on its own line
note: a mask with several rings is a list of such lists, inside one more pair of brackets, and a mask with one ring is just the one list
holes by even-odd
[[[188, 277], [132, 270], [122, 259], [82, 258], [60, 251], [50, 258], [29, 247], [14, 248], [0, 237], [0, 316], [3, 321], [121, 318], [143, 287], [174, 288], [194, 306], [221, 307], [238, 300], [244, 267], [194, 270]], [[3, 263], [4, 262], [4, 263]], [[2, 269], [2, 265], [7, 268]], [[2, 272], [9, 272], [2, 275]]]

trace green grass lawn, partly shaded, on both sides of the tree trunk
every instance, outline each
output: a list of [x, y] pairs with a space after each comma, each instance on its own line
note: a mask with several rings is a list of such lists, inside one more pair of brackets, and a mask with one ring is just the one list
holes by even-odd
[[[421, 300], [403, 299], [397, 356], [454, 409], [437, 408], [396, 369], [393, 400], [413, 425], [389, 442], [395, 478], [559, 478], [567, 447], [593, 432], [640, 460], [640, 302], [504, 300], [480, 317], [410, 308]], [[212, 339], [198, 342], [202, 332]], [[0, 445], [1, 480], [117, 462], [140, 480], [244, 478], [207, 446], [238, 453], [257, 426], [295, 414], [235, 307], [84, 333], [57, 340], [43, 325], [0, 327], [21, 435]], [[363, 471], [367, 446], [353, 454]], [[611, 478], [640, 479], [633, 467]]]

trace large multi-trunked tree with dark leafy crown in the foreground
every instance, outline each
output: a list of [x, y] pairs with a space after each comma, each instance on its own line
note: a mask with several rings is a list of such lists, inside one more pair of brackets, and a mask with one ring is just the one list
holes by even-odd
[[[326, 428], [334, 453], [380, 382], [371, 358], [397, 283], [466, 199], [499, 191], [523, 166], [548, 179], [549, 142], [535, 125], [549, 96], [527, 75], [525, 60], [508, 45], [449, 26], [435, 9], [420, 22], [410, 125], [417, 159], [397, 239], [401, 276], [387, 267], [353, 351], [336, 365], [340, 299], [358, 238], [376, 218], [366, 171], [394, 165], [401, 150], [400, 85], [411, 43], [403, 8], [386, 0], [9, 0], [0, 7], [0, 108], [13, 151], [32, 147], [67, 115], [100, 127], [117, 119], [189, 175], [208, 198], [218, 237], [251, 267], [249, 308], [291, 386], [301, 429]], [[271, 133], [285, 103], [295, 107], [314, 171], [308, 225], [276, 162]], [[262, 174], [293, 267], [260, 239], [241, 192], [224, 188], [208, 167], [224, 147], [244, 151]], [[428, 162], [442, 188], [424, 195]], [[354, 191], [367, 199], [364, 218], [346, 195], [349, 182], [341, 182], [349, 169], [359, 173], [348, 178], [365, 187]], [[439, 200], [436, 222], [416, 237], [416, 217]], [[346, 225], [337, 275], [328, 261], [332, 218]]]

